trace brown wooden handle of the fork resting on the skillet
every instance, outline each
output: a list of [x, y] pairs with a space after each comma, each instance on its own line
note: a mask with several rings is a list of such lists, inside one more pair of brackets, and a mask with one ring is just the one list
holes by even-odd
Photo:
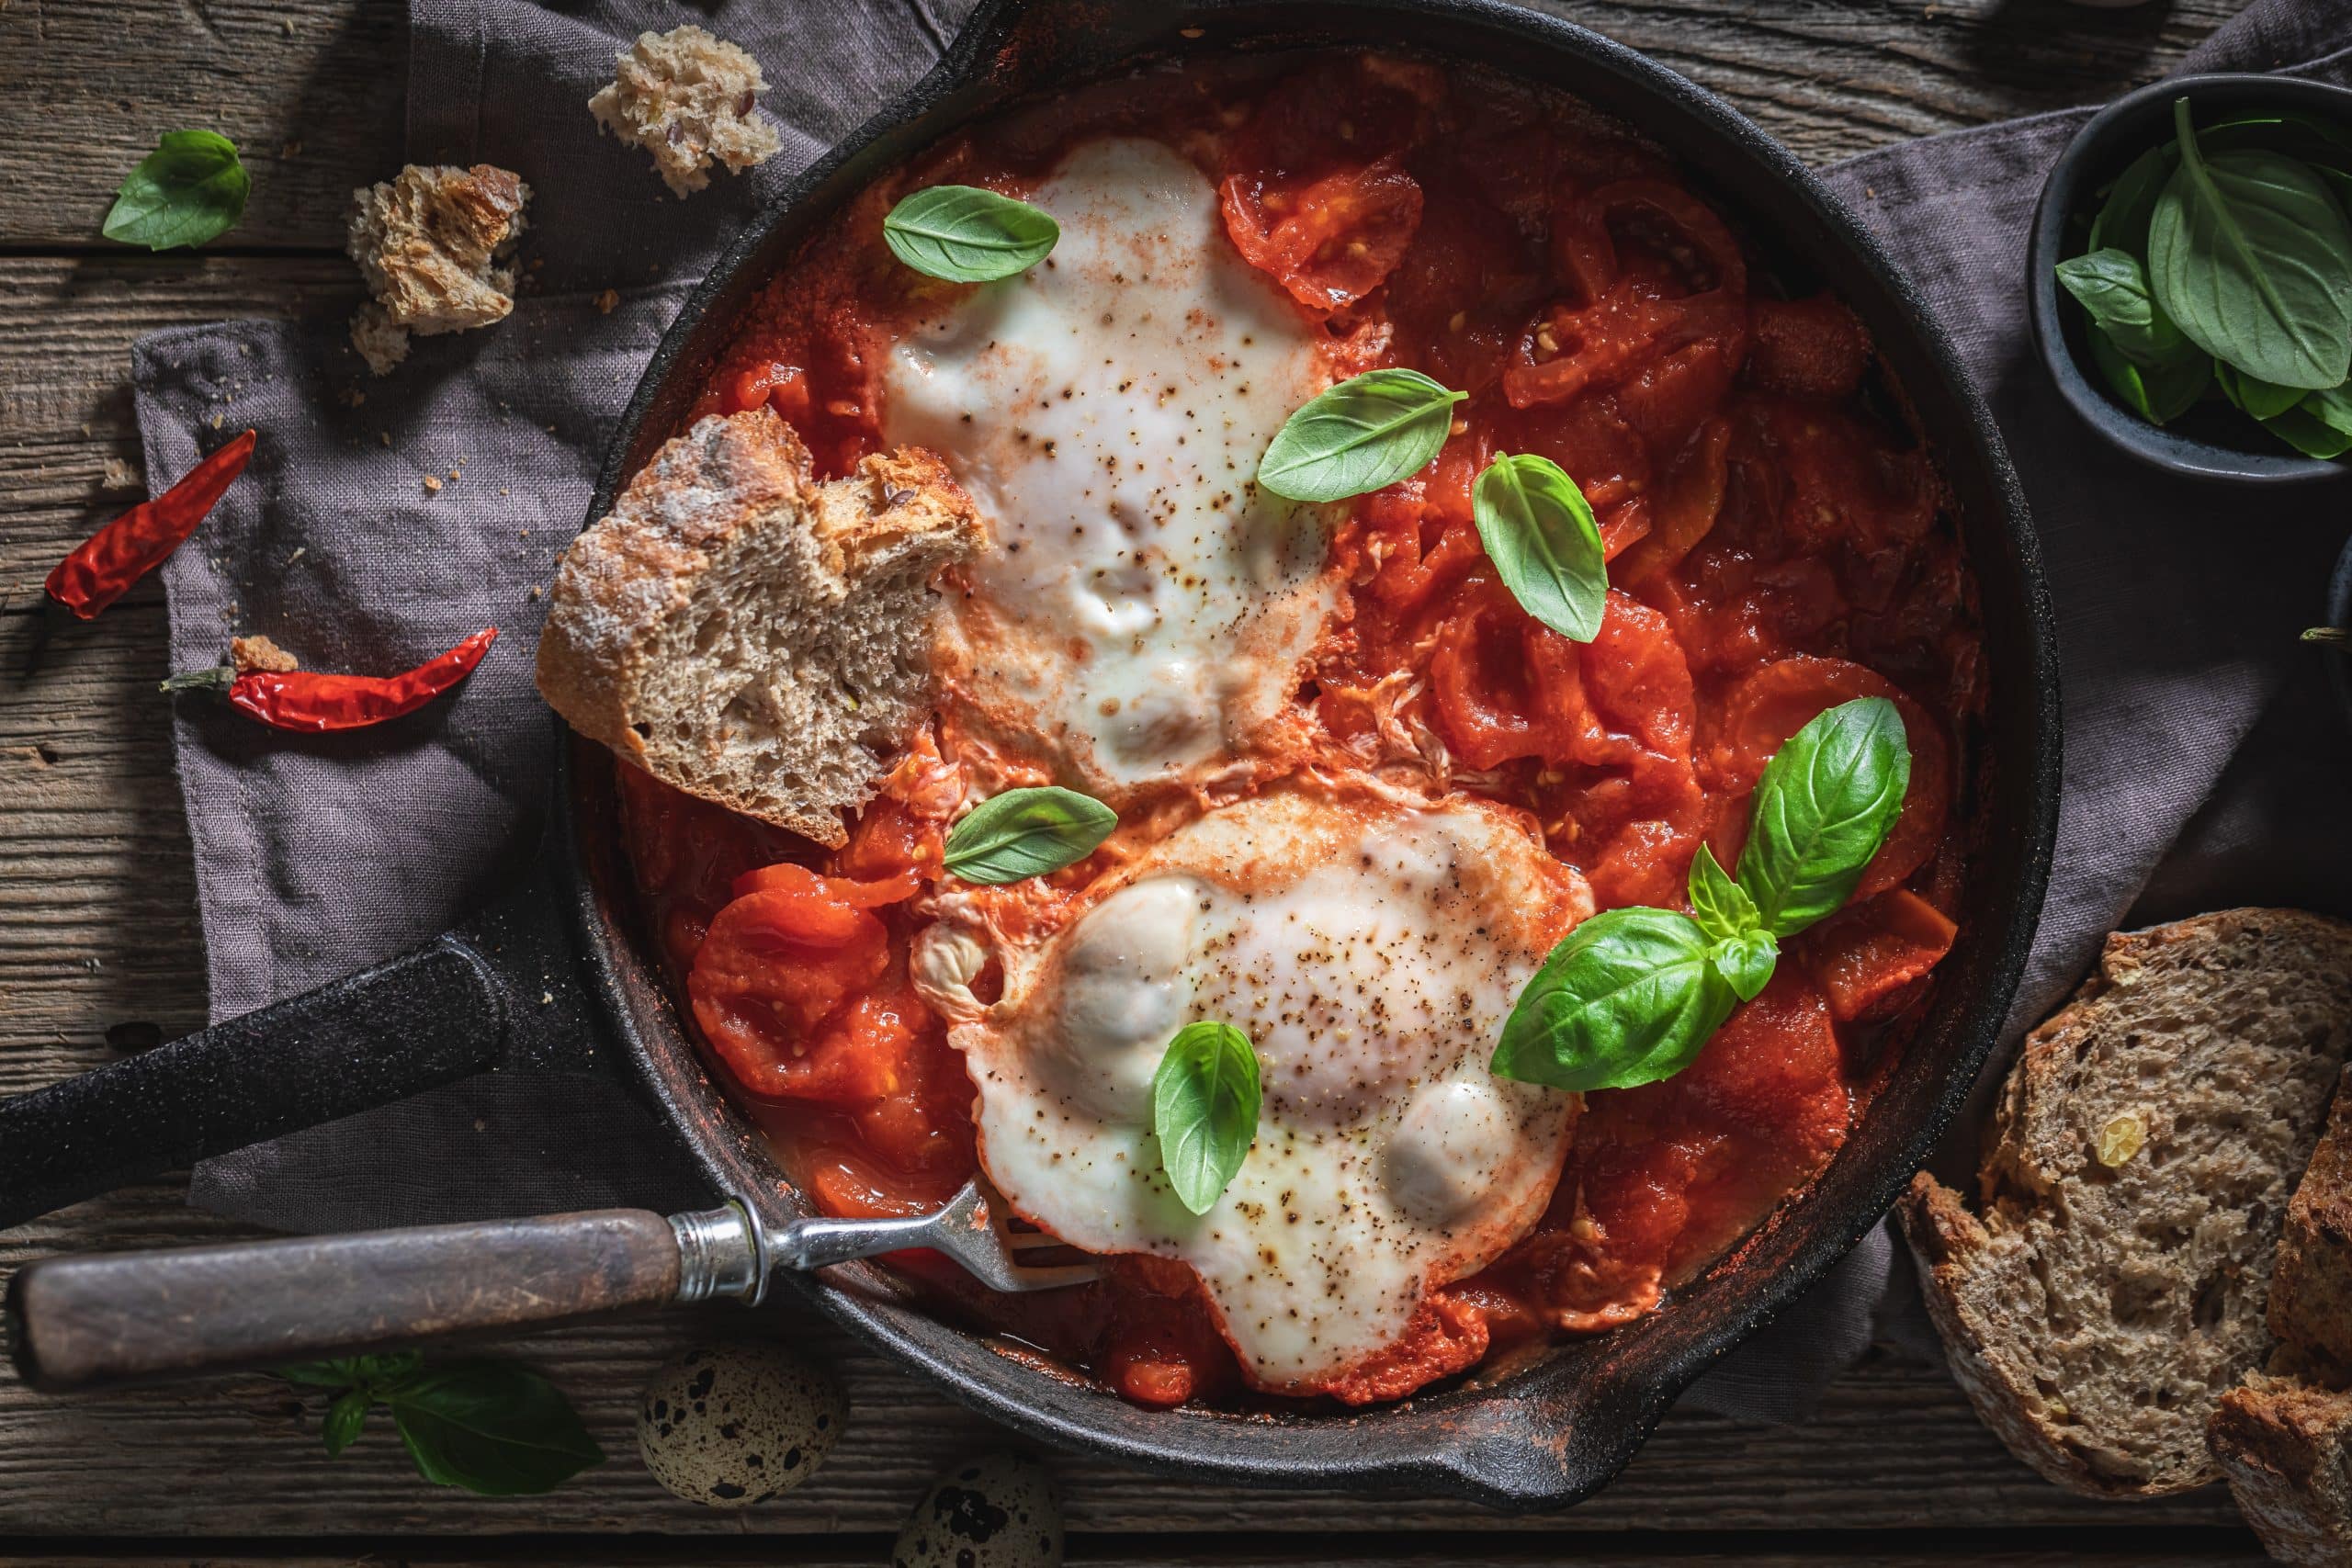
[[550, 1328], [680, 1300], [680, 1232], [607, 1208], [153, 1253], [49, 1258], [7, 1300], [52, 1394]]

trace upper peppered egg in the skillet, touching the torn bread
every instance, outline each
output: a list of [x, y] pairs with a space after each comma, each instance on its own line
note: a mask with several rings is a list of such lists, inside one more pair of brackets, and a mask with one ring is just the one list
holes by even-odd
[[896, 343], [884, 437], [946, 454], [990, 524], [941, 618], [943, 710], [1117, 799], [1287, 708], [1334, 588], [1324, 517], [1256, 470], [1329, 374], [1171, 148], [1082, 143], [1028, 200], [1054, 254]]

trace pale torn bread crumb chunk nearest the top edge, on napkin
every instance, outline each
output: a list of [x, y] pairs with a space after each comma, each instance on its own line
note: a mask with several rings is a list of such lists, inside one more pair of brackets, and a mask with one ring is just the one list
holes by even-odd
[[637, 33], [616, 63], [588, 110], [621, 146], [649, 150], [680, 197], [710, 183], [713, 162], [741, 174], [783, 150], [783, 136], [757, 113], [767, 92], [760, 61], [724, 38], [694, 24]]

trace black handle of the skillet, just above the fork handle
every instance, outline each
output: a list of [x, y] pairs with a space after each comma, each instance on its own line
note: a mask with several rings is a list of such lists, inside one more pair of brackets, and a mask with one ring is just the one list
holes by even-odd
[[492, 1067], [600, 1065], [548, 875], [346, 980], [0, 1100], [0, 1229]]

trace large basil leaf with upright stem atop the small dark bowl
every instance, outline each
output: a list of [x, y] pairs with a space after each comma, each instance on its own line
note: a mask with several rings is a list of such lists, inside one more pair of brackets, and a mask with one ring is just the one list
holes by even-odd
[[2305, 165], [2279, 153], [2204, 158], [2187, 99], [2173, 103], [2180, 167], [2147, 223], [2157, 303], [2216, 360], [2279, 386], [2352, 371], [2352, 221]]

